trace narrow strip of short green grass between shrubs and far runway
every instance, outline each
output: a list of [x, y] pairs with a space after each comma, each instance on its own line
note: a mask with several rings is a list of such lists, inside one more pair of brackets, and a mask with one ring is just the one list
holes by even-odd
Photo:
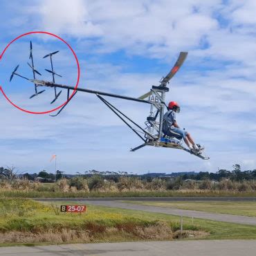
[[0, 190], [0, 196], [9, 198], [97, 198], [97, 197], [166, 197], [166, 196], [256, 196], [256, 192], [221, 190], [167, 190], [167, 191], [127, 191], [127, 192], [51, 192], [32, 190]]

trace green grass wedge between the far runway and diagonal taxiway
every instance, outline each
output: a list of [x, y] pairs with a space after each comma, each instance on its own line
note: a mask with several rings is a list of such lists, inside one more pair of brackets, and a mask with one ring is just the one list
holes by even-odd
[[178, 208], [183, 210], [198, 210], [203, 212], [217, 212], [226, 214], [244, 215], [256, 217], [255, 201], [125, 201], [127, 203], [138, 203], [141, 205], [152, 205], [158, 207]]

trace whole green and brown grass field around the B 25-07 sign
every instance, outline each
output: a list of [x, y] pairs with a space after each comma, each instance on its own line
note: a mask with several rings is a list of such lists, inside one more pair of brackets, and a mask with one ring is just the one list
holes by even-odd
[[[68, 202], [66, 202], [68, 203]], [[0, 244], [58, 244], [170, 239], [256, 239], [256, 227], [87, 205], [86, 214], [60, 212], [60, 204], [0, 199]], [[79, 204], [72, 202], [71, 204]]]

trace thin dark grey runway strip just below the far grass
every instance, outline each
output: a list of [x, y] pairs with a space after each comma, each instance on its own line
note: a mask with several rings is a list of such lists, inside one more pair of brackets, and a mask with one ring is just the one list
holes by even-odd
[[256, 201], [255, 196], [172, 196], [172, 197], [98, 197], [98, 198], [31, 198], [37, 201]]

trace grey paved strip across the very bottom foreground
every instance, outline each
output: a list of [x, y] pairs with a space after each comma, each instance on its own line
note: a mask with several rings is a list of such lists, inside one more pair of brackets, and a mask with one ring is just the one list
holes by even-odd
[[255, 240], [150, 241], [0, 248], [0, 255], [5, 256], [255, 256], [255, 252]]

